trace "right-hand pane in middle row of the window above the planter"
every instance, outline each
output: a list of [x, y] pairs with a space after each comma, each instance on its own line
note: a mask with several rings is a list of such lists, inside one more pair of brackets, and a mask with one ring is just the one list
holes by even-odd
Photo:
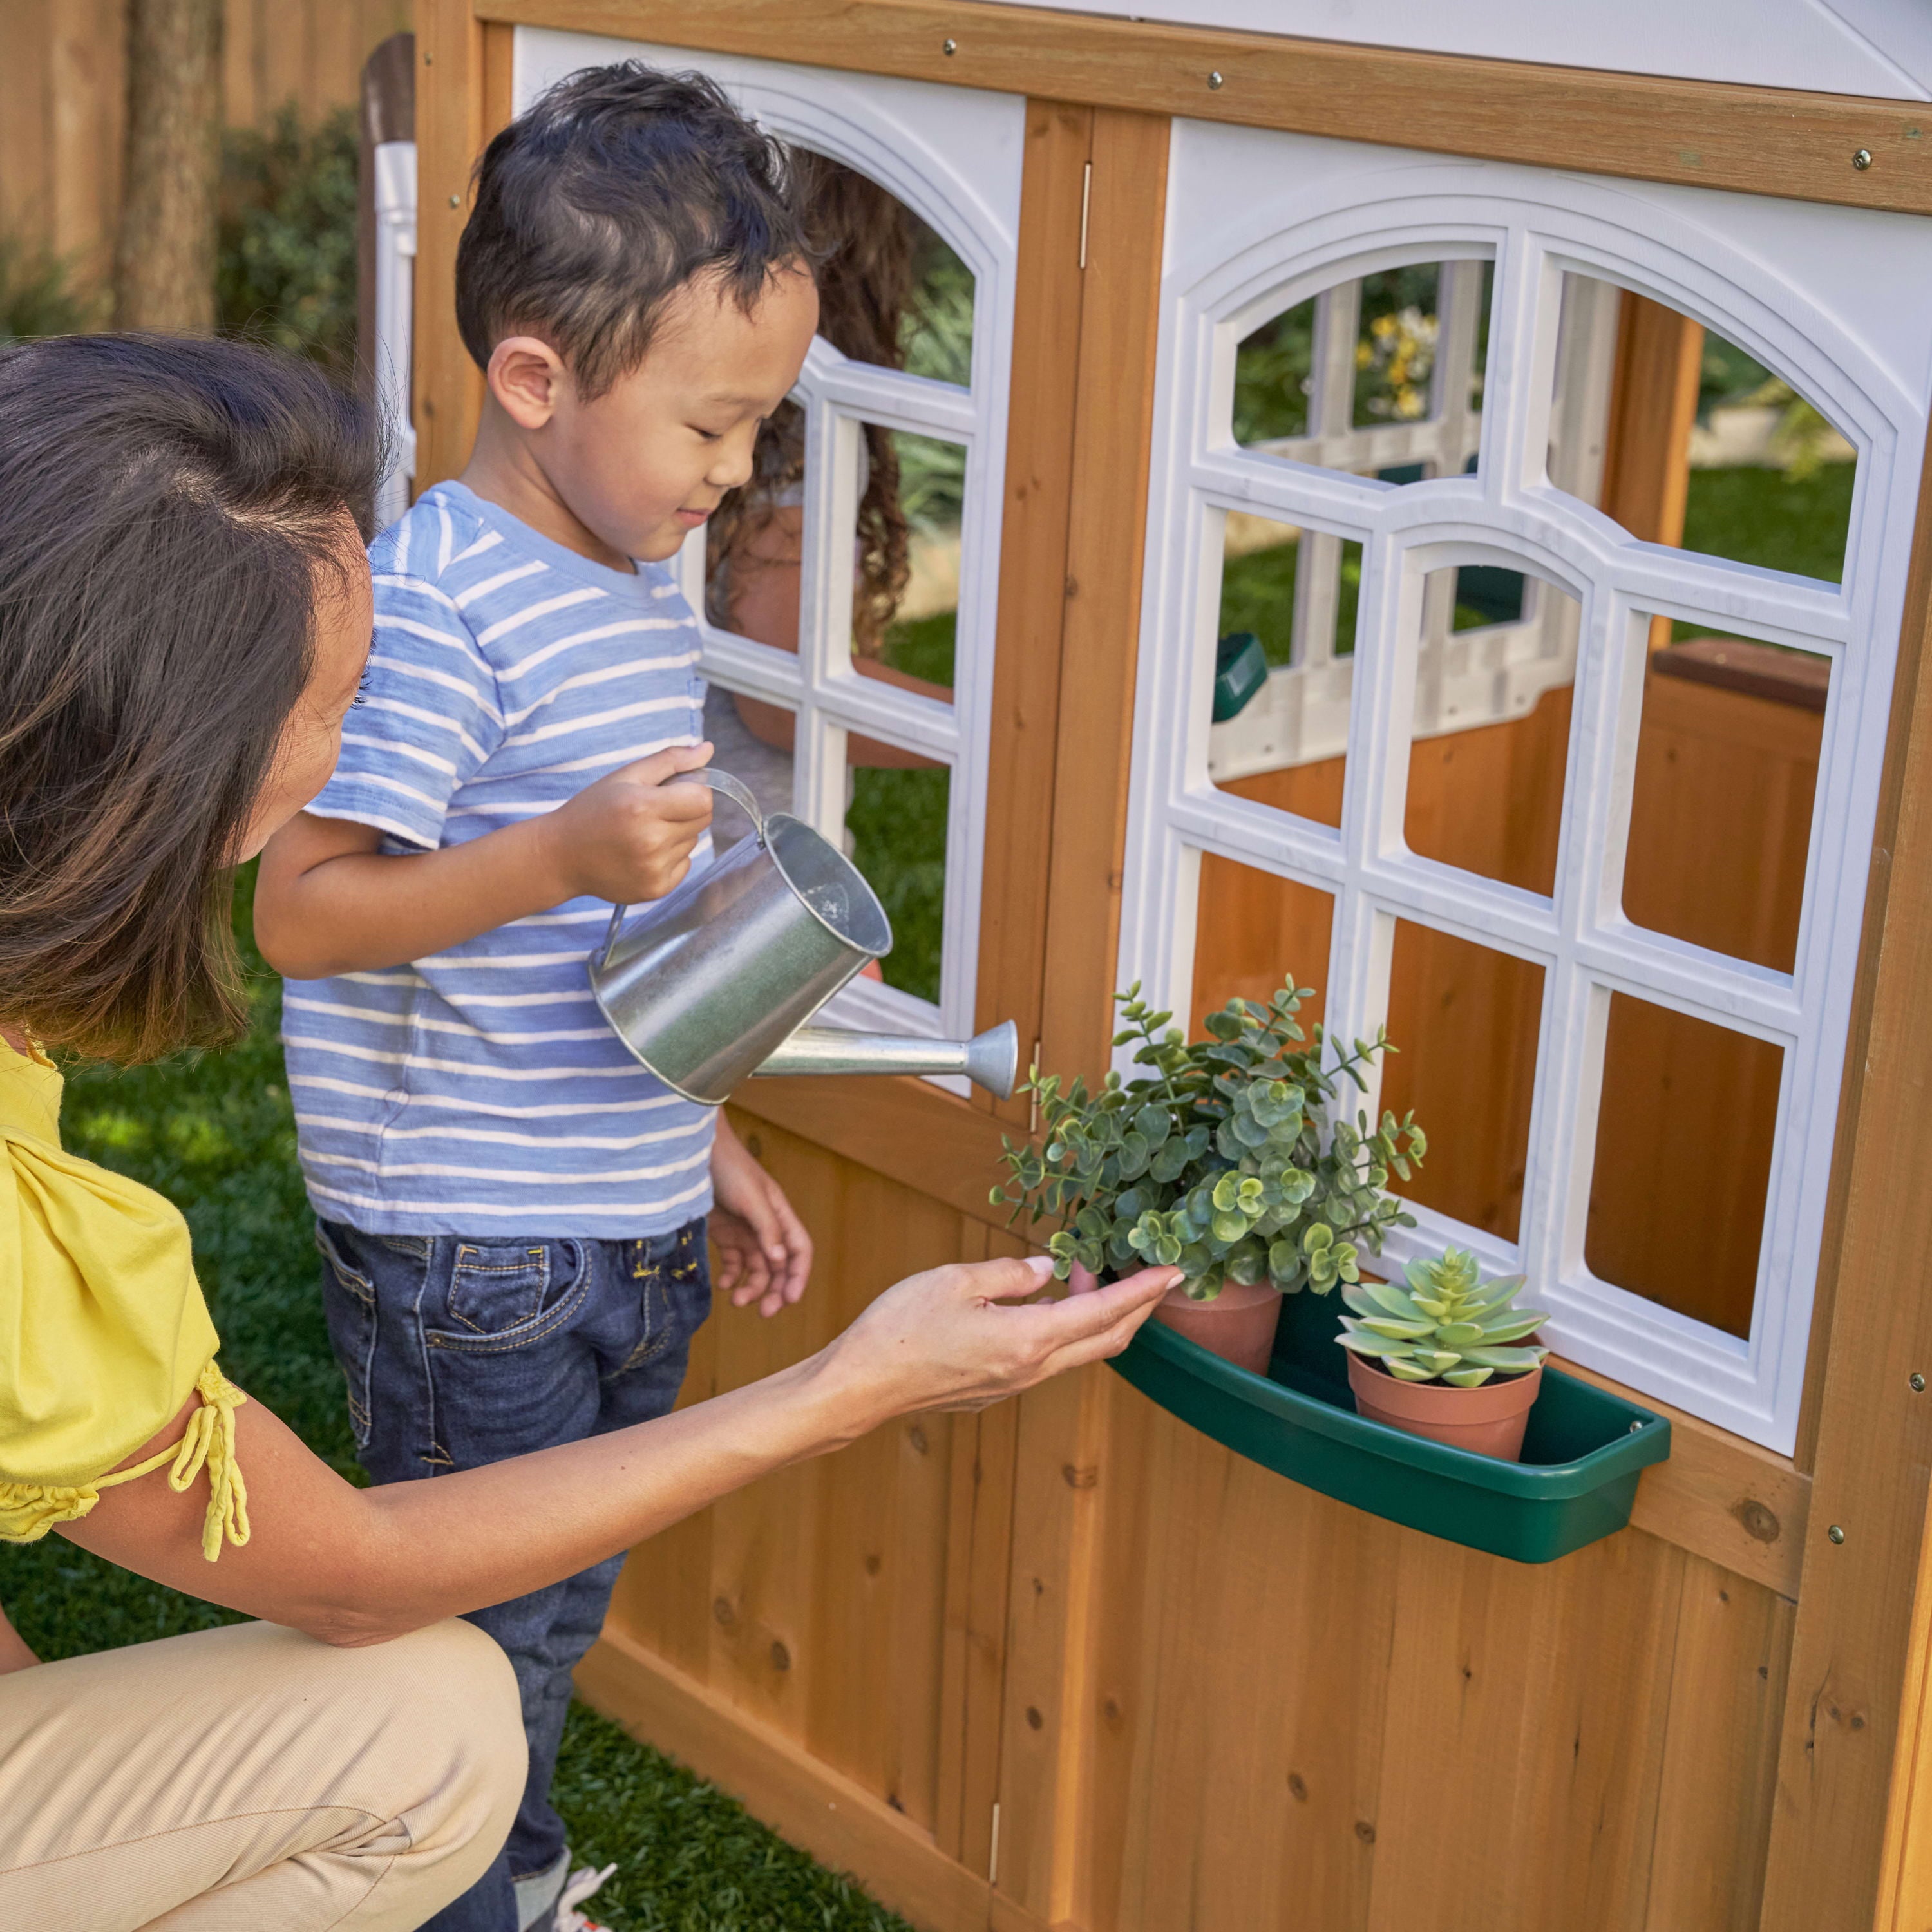
[[1625, 918], [1791, 972], [1830, 680], [1822, 653], [1721, 632], [1648, 653]]

